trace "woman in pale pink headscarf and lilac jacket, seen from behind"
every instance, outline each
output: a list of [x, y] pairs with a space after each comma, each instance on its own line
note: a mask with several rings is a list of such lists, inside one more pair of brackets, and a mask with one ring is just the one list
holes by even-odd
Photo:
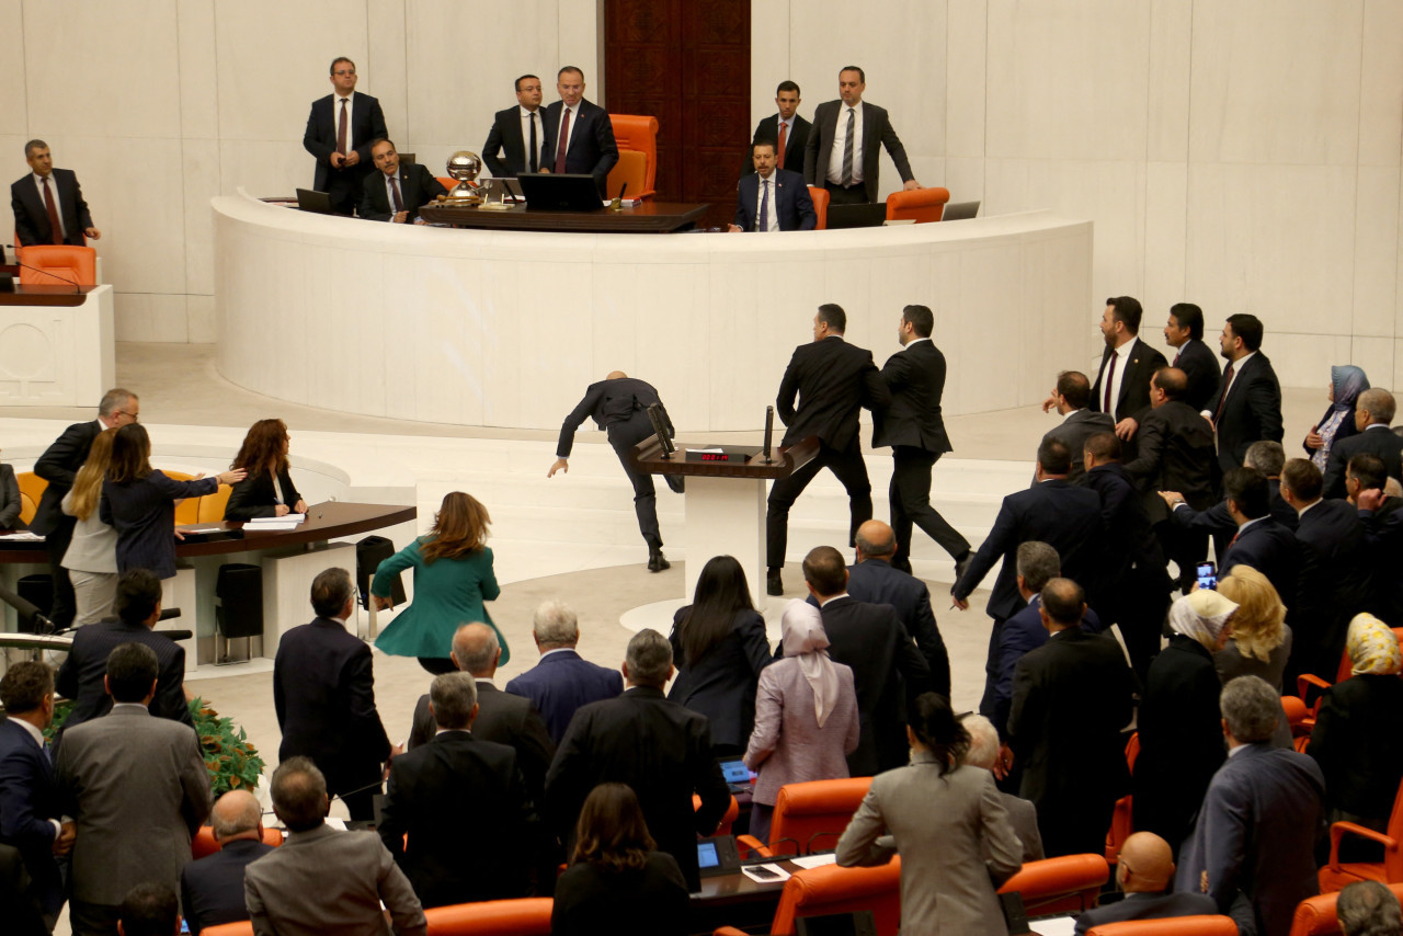
[[745, 765], [759, 773], [751, 793], [751, 835], [770, 841], [774, 800], [786, 783], [847, 776], [857, 749], [857, 690], [853, 671], [828, 657], [818, 609], [798, 599], [780, 623], [784, 657], [760, 671], [755, 731]]

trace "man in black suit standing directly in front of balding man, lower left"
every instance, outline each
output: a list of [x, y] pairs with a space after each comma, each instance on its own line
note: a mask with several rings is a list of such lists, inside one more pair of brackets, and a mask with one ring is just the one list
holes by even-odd
[[[478, 733], [478, 704], [470, 674], [435, 678], [434, 740], [390, 763], [376, 831], [424, 907], [526, 897], [540, 864], [540, 820], [516, 751]], [[549, 894], [550, 880], [542, 885]]]

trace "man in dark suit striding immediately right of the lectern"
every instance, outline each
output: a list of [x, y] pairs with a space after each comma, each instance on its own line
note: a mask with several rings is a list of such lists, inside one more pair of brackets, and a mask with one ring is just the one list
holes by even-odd
[[[780, 570], [788, 543], [788, 511], [808, 483], [822, 470], [831, 470], [847, 491], [850, 522], [847, 542], [857, 528], [873, 518], [873, 486], [867, 480], [861, 439], [857, 436], [857, 411], [863, 407], [885, 408], [891, 393], [873, 363], [873, 352], [843, 340], [847, 313], [842, 306], [825, 303], [814, 316], [814, 341], [794, 349], [784, 379], [780, 380], [774, 410], [787, 427], [781, 446], [798, 445], [818, 436], [818, 455], [786, 479], [774, 481], [765, 512], [765, 587], [770, 595], [784, 594]], [[798, 397], [796, 407], [794, 399]]]

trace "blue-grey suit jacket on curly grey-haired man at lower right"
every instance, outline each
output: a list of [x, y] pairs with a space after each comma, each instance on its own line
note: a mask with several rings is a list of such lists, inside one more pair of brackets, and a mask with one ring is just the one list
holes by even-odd
[[1268, 742], [1249, 744], [1214, 775], [1176, 891], [1207, 894], [1226, 914], [1244, 894], [1258, 933], [1291, 932], [1296, 904], [1320, 892], [1315, 846], [1323, 832], [1324, 776], [1316, 762]]

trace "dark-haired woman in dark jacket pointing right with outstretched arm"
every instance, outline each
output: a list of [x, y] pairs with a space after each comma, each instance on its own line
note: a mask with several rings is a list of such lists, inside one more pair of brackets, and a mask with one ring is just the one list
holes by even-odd
[[116, 530], [116, 571], [149, 568], [175, 578], [175, 501], [203, 497], [244, 480], [243, 470], [177, 481], [152, 467], [152, 439], [140, 422], [112, 436], [112, 460], [102, 481], [102, 522]]

